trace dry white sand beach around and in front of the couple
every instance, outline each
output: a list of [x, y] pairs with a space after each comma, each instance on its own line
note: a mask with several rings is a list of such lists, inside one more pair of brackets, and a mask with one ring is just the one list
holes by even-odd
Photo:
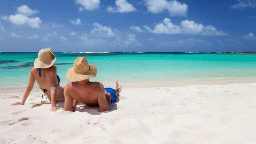
[[255, 88], [256, 83], [124, 88], [120, 101], [102, 113], [82, 105], [75, 112], [50, 112], [50, 103], [37, 105], [41, 92], [25, 105], [10, 106], [23, 95], [0, 94], [0, 143], [255, 144]]

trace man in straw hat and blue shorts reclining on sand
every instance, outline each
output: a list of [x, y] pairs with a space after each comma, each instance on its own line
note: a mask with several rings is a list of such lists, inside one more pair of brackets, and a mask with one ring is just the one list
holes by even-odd
[[[77, 103], [98, 105], [100, 111], [111, 109], [111, 103], [115, 102], [116, 95], [120, 93], [122, 87], [116, 90], [112, 88], [105, 90], [102, 83], [89, 81], [96, 75], [96, 66], [88, 64], [85, 57], [78, 57], [75, 60], [73, 67], [66, 73], [66, 77], [72, 82], [68, 83], [64, 89], [65, 110], [75, 111]], [[116, 84], [118, 85], [117, 82]]]

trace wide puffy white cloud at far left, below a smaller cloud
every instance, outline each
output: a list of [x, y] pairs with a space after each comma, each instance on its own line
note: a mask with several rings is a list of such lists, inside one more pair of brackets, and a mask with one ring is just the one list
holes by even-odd
[[2, 16], [2, 19], [9, 20], [11, 23], [15, 25], [27, 25], [32, 28], [40, 28], [40, 24], [42, 23], [39, 17], [29, 18], [23, 14], [10, 15], [9, 17]]

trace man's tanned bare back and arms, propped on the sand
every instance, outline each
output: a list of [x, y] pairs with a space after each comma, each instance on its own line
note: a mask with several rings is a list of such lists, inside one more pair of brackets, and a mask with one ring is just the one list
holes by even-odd
[[98, 105], [100, 111], [111, 109], [111, 95], [106, 93], [100, 82], [89, 82], [89, 79], [70, 82], [65, 86], [64, 96], [64, 109], [68, 111], [74, 111], [77, 103]]

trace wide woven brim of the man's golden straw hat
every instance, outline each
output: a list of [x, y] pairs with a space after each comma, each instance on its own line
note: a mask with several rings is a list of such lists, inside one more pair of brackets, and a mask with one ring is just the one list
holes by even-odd
[[92, 78], [92, 77], [96, 77], [97, 75], [97, 67], [92, 65], [92, 64], [89, 64], [91, 69], [84, 73], [84, 74], [77, 74], [74, 72], [74, 69], [73, 67], [71, 67], [67, 73], [66, 73], [66, 77], [71, 80], [71, 81], [82, 81], [82, 80], [86, 80], [86, 79], [89, 79], [89, 78]]

